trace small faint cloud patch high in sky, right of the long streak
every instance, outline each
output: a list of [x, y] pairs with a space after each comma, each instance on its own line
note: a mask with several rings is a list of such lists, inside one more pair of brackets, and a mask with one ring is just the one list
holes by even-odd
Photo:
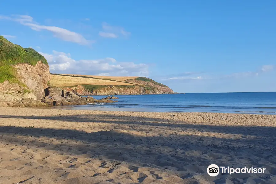
[[102, 29], [103, 31], [100, 31], [99, 35], [106, 38], [117, 38], [120, 35], [127, 37], [131, 34], [130, 32], [125, 31], [125, 29], [122, 27], [111, 26], [108, 25], [106, 22], [102, 23]]

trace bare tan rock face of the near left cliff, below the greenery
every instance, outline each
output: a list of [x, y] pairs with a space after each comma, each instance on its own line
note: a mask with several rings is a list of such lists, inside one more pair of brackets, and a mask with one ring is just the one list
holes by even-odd
[[[19, 83], [0, 83], [0, 106], [3, 107], [44, 107], [41, 102], [44, 89], [50, 79], [49, 66], [38, 62], [35, 66], [17, 64], [13, 66]], [[25, 100], [23, 100], [25, 99]]]

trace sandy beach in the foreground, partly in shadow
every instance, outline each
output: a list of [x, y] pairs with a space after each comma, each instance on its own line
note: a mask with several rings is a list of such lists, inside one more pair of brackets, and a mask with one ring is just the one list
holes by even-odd
[[[276, 183], [276, 116], [0, 108], [0, 183]], [[210, 164], [264, 167], [219, 174]]]

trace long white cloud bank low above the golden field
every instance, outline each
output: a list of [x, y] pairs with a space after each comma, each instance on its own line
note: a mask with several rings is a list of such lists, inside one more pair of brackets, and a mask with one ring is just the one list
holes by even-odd
[[118, 62], [114, 58], [75, 60], [69, 53], [53, 51], [39, 52], [48, 61], [51, 73], [110, 76], [148, 76], [148, 65], [144, 63]]

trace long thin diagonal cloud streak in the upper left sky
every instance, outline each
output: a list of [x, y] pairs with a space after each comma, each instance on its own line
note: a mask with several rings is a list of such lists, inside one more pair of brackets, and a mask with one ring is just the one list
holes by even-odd
[[93, 43], [92, 40], [86, 40], [81, 34], [69, 31], [67, 29], [59, 28], [56, 26], [39, 25], [33, 21], [33, 17], [28, 15], [16, 15], [16, 16], [0, 16], [0, 19], [19, 22], [22, 25], [28, 26], [35, 31], [47, 30], [57, 38], [64, 41], [74, 42], [81, 45], [89, 45]]

